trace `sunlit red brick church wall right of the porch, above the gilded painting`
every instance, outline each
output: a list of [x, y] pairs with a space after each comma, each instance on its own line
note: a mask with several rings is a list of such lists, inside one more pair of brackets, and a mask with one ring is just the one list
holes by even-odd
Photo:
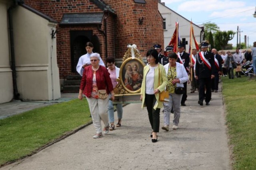
[[[164, 44], [162, 16], [157, 0], [137, 4], [134, 0], [104, 0], [117, 14], [115, 25], [115, 57], [122, 58], [128, 44], [136, 44], [142, 57], [154, 44]], [[144, 18], [142, 25], [139, 18]], [[163, 47], [164, 48], [164, 47]]]

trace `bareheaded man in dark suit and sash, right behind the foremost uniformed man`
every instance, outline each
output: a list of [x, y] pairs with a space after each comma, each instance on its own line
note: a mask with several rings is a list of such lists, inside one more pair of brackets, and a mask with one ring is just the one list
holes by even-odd
[[214, 71], [214, 78], [212, 79], [212, 92], [218, 92], [218, 87], [219, 87], [219, 74], [221, 75], [222, 73], [222, 63], [223, 59], [222, 57], [218, 54], [216, 49], [212, 49], [212, 53], [214, 55], [214, 64], [215, 64], [215, 71]]

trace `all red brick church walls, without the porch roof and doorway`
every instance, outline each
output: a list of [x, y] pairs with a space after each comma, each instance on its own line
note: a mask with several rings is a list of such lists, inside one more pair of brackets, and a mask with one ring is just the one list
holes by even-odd
[[[25, 4], [52, 17], [62, 20], [66, 13], [102, 12], [90, 0], [24, 0]], [[128, 44], [136, 44], [142, 57], [156, 43], [164, 44], [162, 17], [158, 12], [157, 0], [146, 0], [146, 4], [136, 4], [134, 0], [104, 0], [105, 4], [116, 11], [117, 16], [104, 14], [107, 23], [108, 57], [121, 59]], [[144, 18], [142, 25], [138, 19]], [[100, 40], [100, 56], [106, 61], [105, 37], [95, 25], [56, 27], [57, 61], [60, 78], [71, 72], [70, 30], [93, 30]], [[100, 27], [104, 31], [104, 19]]]

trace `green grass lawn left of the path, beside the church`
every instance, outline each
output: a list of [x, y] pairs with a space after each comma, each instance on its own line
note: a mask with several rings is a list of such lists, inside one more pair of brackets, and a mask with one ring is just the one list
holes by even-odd
[[33, 109], [0, 120], [0, 165], [14, 161], [91, 121], [86, 99]]

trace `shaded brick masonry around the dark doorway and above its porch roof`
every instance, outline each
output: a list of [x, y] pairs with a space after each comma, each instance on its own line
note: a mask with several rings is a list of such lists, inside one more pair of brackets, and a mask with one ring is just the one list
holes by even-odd
[[[67, 13], [85, 13], [85, 12], [103, 12], [89, 0], [24, 0], [28, 6], [50, 16], [59, 23], [63, 14]], [[107, 17], [107, 14], [104, 14]], [[108, 36], [108, 56], [114, 57], [114, 17], [110, 14], [107, 19], [107, 36]], [[97, 35], [100, 41], [100, 56], [106, 61], [105, 56], [105, 37], [97, 29], [96, 25], [80, 26], [57, 26], [57, 62], [59, 66], [60, 78], [68, 75], [76, 75], [71, 72], [71, 51], [70, 51], [70, 31], [87, 31], [92, 30], [93, 35]], [[104, 21], [100, 27], [104, 31]]]

